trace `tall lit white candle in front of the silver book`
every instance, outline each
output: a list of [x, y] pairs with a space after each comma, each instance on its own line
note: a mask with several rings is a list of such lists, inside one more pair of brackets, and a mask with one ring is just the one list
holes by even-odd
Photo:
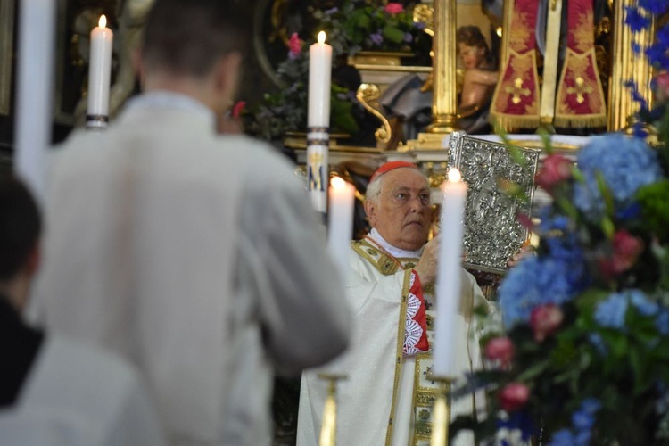
[[462, 256], [462, 219], [467, 201], [467, 185], [458, 169], [450, 169], [449, 179], [442, 184], [442, 228], [439, 232], [439, 266], [436, 283], [436, 328], [434, 334], [434, 375], [453, 377], [455, 368], [454, 340], [460, 296], [460, 262]]

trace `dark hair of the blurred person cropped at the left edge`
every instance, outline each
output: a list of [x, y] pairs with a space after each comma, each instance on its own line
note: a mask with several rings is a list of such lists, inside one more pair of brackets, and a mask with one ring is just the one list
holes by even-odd
[[0, 178], [0, 280], [16, 275], [42, 229], [37, 202], [14, 177]]

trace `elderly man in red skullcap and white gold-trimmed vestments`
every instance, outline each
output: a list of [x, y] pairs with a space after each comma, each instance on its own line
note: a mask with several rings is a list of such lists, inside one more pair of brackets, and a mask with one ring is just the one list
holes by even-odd
[[[434, 392], [430, 380], [434, 345], [434, 280], [440, 243], [427, 242], [432, 222], [430, 188], [415, 164], [391, 161], [370, 179], [365, 202], [371, 232], [351, 242], [346, 298], [355, 312], [349, 351], [324, 368], [302, 375], [298, 446], [318, 444], [326, 371], [347, 376], [337, 387], [337, 442], [344, 445], [428, 445]], [[441, 242], [440, 242], [441, 240]], [[457, 241], [453, 241], [457, 243]], [[478, 305], [490, 306], [475, 278], [461, 269], [455, 365], [463, 374], [479, 368]], [[492, 310], [492, 309], [491, 309]], [[481, 411], [474, 395], [451, 403], [451, 420]], [[475, 407], [476, 406], [476, 407]], [[474, 444], [470, 432], [455, 445]]]

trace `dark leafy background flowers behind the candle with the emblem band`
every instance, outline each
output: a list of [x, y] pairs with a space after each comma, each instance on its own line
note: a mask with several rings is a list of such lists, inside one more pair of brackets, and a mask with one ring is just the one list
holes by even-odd
[[[314, 11], [316, 31], [325, 30], [327, 43], [333, 47], [335, 73], [346, 65], [346, 57], [361, 50], [414, 51], [429, 54], [430, 37], [425, 25], [414, 22], [410, 8], [401, 3], [369, 4], [365, 0], [346, 0], [341, 8]], [[303, 40], [295, 32], [288, 41], [286, 59], [277, 68], [284, 83], [280, 91], [265, 95], [260, 105], [244, 111], [247, 133], [267, 140], [285, 136], [287, 131], [303, 131], [307, 122], [309, 82], [309, 46], [316, 34]], [[351, 68], [352, 70], [352, 68]], [[355, 97], [357, 85], [333, 76], [331, 128], [334, 133], [356, 135], [367, 116]]]

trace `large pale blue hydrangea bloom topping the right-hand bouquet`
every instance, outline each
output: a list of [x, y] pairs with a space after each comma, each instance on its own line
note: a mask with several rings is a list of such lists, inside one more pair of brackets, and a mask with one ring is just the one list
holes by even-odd
[[618, 205], [628, 206], [641, 186], [662, 178], [657, 154], [639, 138], [619, 134], [594, 136], [582, 148], [576, 161], [585, 183], [574, 186], [574, 204], [586, 214], [599, 218], [604, 200], [599, 192], [597, 175], [603, 177]]

